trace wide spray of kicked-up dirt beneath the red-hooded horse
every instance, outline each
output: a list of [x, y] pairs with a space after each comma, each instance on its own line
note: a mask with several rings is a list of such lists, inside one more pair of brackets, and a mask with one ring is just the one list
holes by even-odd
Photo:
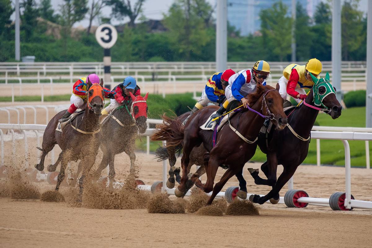
[[137, 189], [135, 178], [130, 176], [120, 189], [88, 179], [84, 183], [83, 204], [88, 208], [141, 209], [146, 207], [149, 197], [149, 193]]

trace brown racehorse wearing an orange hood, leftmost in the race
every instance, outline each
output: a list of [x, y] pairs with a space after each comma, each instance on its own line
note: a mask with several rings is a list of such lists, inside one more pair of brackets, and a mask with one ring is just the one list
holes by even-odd
[[41, 160], [35, 168], [39, 171], [44, 170], [45, 156], [50, 152], [54, 145], [58, 144], [62, 152], [58, 156], [54, 165], [48, 165], [48, 171], [55, 171], [61, 161], [61, 170], [57, 177], [58, 190], [61, 182], [65, 177], [65, 169], [69, 161], [80, 159], [79, 167], [83, 168], [83, 175], [79, 179], [80, 196], [83, 193], [83, 181], [92, 168], [100, 145], [102, 135], [99, 126], [99, 116], [104, 105], [103, 80], [100, 84], [92, 84], [87, 78], [87, 104], [84, 113], [76, 116], [68, 123], [62, 132], [56, 131], [59, 119], [64, 115], [66, 110], [59, 112], [48, 123], [45, 128]]

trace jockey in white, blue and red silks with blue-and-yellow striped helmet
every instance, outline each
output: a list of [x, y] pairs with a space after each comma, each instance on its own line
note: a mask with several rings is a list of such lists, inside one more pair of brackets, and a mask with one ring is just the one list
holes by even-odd
[[266, 85], [265, 79], [269, 77], [269, 74], [269, 63], [259, 60], [252, 69], [242, 70], [232, 75], [229, 79], [229, 85], [225, 89], [226, 101], [211, 117], [216, 118], [222, 115], [232, 100], [241, 101], [244, 107], [247, 107], [248, 100], [244, 97], [253, 92], [257, 84]]

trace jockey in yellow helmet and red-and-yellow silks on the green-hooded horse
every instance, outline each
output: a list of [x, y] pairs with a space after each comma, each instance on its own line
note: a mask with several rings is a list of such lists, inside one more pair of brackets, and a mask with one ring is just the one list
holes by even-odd
[[321, 71], [322, 63], [316, 58], [310, 59], [306, 65], [288, 65], [283, 70], [283, 76], [278, 81], [280, 96], [286, 101], [288, 93], [297, 103], [301, 102], [301, 100], [306, 98], [306, 92], [303, 88], [311, 88], [314, 84], [310, 73], [314, 77], [320, 78], [319, 74]]

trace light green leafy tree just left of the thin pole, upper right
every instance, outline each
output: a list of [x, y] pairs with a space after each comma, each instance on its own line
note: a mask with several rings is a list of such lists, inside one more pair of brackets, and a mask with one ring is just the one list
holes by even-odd
[[287, 7], [280, 1], [269, 9], [261, 10], [261, 33], [263, 47], [269, 60], [288, 60], [291, 54], [292, 19], [287, 15]]

